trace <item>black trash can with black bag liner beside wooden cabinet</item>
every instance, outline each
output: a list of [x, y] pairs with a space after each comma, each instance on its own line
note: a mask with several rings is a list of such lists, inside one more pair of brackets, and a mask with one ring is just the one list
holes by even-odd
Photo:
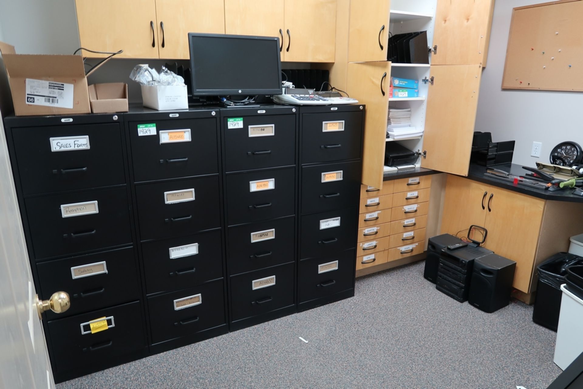
[[538, 265], [539, 281], [536, 284], [536, 301], [532, 321], [549, 330], [557, 331], [561, 310], [561, 284], [565, 282], [567, 268], [583, 265], [583, 258], [569, 253], [557, 253]]

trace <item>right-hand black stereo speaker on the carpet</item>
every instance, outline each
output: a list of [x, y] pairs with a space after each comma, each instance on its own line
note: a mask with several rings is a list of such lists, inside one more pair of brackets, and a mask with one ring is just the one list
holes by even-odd
[[516, 262], [497, 254], [474, 261], [468, 302], [492, 313], [510, 303]]

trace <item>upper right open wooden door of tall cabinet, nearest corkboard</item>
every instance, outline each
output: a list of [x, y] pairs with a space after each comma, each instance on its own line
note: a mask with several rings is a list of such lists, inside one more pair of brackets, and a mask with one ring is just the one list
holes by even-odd
[[494, 0], [437, 0], [431, 65], [486, 66]]

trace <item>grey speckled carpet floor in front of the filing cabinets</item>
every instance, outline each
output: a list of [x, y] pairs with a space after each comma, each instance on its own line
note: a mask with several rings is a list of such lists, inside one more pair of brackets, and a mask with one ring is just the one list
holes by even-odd
[[438, 292], [417, 262], [357, 279], [352, 299], [57, 388], [545, 389], [561, 373], [555, 338], [531, 306], [483, 313]]

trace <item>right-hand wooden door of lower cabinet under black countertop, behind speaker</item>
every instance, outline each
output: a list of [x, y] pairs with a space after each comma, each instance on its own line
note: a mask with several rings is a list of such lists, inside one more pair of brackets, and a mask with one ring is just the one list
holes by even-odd
[[516, 261], [512, 286], [529, 293], [545, 200], [495, 187], [489, 192], [484, 246]]

